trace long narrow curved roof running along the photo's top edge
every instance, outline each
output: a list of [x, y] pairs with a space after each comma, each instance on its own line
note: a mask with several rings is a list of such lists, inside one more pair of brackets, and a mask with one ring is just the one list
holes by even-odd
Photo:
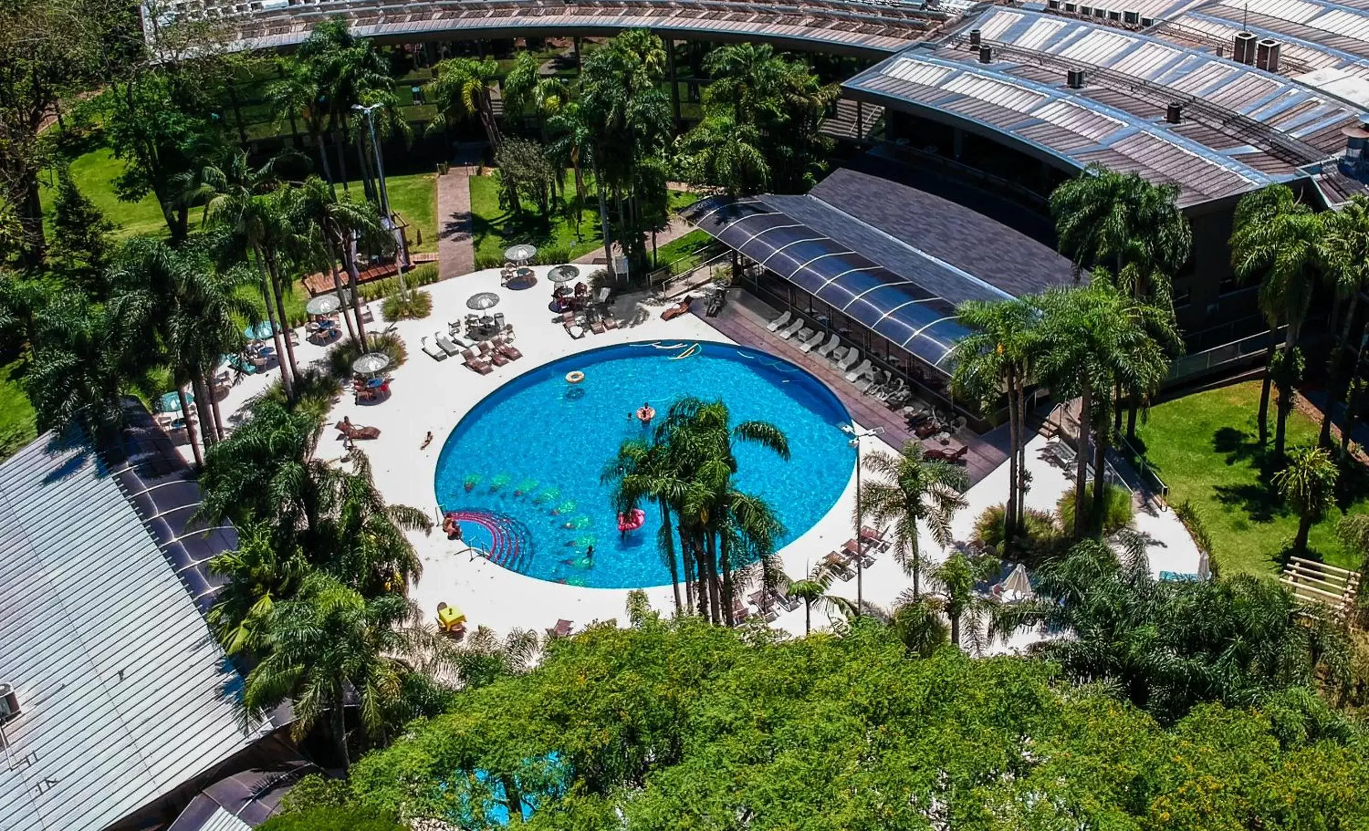
[[257, 3], [172, 4], [175, 11], [220, 16], [237, 26], [231, 49], [289, 47], [315, 23], [344, 16], [361, 37], [616, 34], [652, 29], [679, 37], [772, 40], [799, 48], [887, 55], [925, 38], [956, 12], [860, 0], [324, 0], [263, 8]]

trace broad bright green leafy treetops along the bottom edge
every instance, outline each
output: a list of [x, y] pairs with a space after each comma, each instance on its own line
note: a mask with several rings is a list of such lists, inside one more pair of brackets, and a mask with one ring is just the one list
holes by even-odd
[[[363, 805], [467, 828], [1350, 828], [1369, 746], [1316, 697], [1161, 727], [1046, 663], [908, 657], [872, 623], [771, 642], [591, 627], [353, 768]], [[512, 806], [511, 806], [512, 804]]]

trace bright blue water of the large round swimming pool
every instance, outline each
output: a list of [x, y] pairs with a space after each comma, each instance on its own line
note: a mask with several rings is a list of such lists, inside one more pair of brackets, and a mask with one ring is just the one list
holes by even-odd
[[[804, 370], [727, 344], [627, 344], [565, 357], [504, 385], [448, 435], [435, 490], [464, 538], [490, 560], [543, 580], [601, 589], [669, 583], [656, 542], [660, 513], [620, 534], [600, 471], [624, 438], [645, 435], [632, 412], [660, 413], [684, 396], [721, 398], [734, 423], [764, 419], [789, 437], [790, 460], [741, 444], [738, 486], [763, 496], [787, 534], [813, 526], [836, 502], [856, 452], [839, 429], [842, 402]], [[678, 357], [687, 355], [686, 357]], [[582, 383], [565, 374], [580, 371]], [[591, 561], [585, 559], [594, 546]]]

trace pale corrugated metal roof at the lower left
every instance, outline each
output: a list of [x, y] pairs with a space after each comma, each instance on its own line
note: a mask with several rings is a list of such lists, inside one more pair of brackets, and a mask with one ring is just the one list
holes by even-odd
[[116, 482], [42, 437], [0, 465], [0, 828], [94, 830], [253, 741], [242, 680]]

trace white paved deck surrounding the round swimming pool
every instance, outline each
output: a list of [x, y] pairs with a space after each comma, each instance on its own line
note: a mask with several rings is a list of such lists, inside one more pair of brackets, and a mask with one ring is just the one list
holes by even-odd
[[[534, 367], [545, 363], [612, 344], [631, 341], [693, 341], [709, 340], [730, 342], [721, 333], [708, 326], [695, 315], [683, 315], [675, 320], [661, 320], [660, 307], [643, 307], [630, 298], [616, 298], [613, 312], [624, 320], [624, 326], [605, 334], [586, 334], [571, 340], [553, 314], [548, 311], [552, 283], [545, 279], [548, 267], [538, 267], [537, 285], [524, 290], [509, 290], [500, 286], [498, 271], [486, 270], [424, 287], [433, 296], [433, 314], [423, 320], [401, 320], [396, 331], [408, 348], [408, 360], [390, 372], [392, 396], [378, 404], [355, 404], [350, 394], [342, 396], [329, 413], [329, 426], [320, 441], [319, 456], [329, 460], [345, 455], [342, 442], [333, 423], [350, 416], [356, 424], [371, 424], [381, 429], [375, 441], [359, 442], [371, 460], [375, 483], [392, 504], [405, 504], [428, 511], [437, 517], [434, 475], [437, 459], [448, 434], [456, 423], [485, 396]], [[587, 274], [587, 270], [583, 271]], [[449, 320], [463, 319], [470, 309], [465, 300], [476, 292], [496, 292], [500, 304], [491, 309], [504, 312], [513, 326], [515, 345], [523, 357], [497, 367], [489, 375], [478, 375], [461, 364], [460, 357], [435, 361], [423, 353], [420, 338], [441, 330], [446, 331]], [[379, 303], [372, 304], [375, 323], [368, 330], [383, 329]], [[635, 322], [635, 323], [634, 323]], [[324, 357], [327, 346], [316, 346], [303, 338], [296, 348], [300, 366]], [[233, 387], [220, 401], [220, 411], [230, 423], [252, 396], [260, 393], [278, 371], [248, 376]], [[433, 431], [433, 442], [419, 449], [423, 437]], [[511, 424], [505, 448], [491, 448], [491, 452], [524, 453], [535, 449], [542, 435], [556, 430], [552, 424]], [[561, 446], [570, 444], [574, 452], [574, 435], [557, 430], [556, 439]], [[878, 438], [865, 439], [864, 449], [893, 450]], [[1032, 487], [1027, 504], [1032, 508], [1053, 509], [1060, 494], [1069, 487], [1069, 479], [1061, 468], [1043, 457], [1046, 439], [1036, 437], [1028, 445], [1028, 465], [1032, 474]], [[189, 457], [189, 448], [179, 445]], [[828, 552], [838, 549], [853, 535], [856, 500], [854, 467], [841, 498], [832, 509], [812, 528], [779, 552], [786, 572], [799, 578]], [[994, 504], [1005, 500], [1008, 489], [1008, 465], [1003, 464], [968, 493], [969, 505], [961, 511], [953, 523], [957, 539], [967, 539], [975, 517]], [[1154, 545], [1149, 550], [1151, 571], [1197, 572], [1198, 550], [1172, 511], [1158, 515], [1138, 513], [1136, 527], [1149, 535]], [[439, 530], [431, 535], [412, 535], [415, 548], [423, 559], [423, 576], [411, 589], [411, 597], [424, 612], [435, 613], [438, 602], [460, 606], [472, 626], [489, 626], [505, 632], [512, 628], [542, 631], [556, 624], [559, 619], [574, 622], [579, 628], [594, 620], [624, 619], [626, 589], [586, 589], [541, 580], [508, 571], [487, 560], [463, 550], [459, 544], [449, 542]], [[923, 550], [930, 563], [946, 556], [928, 535], [923, 537]], [[876, 559], [864, 574], [864, 598], [868, 602], [890, 605], [910, 579], [888, 554]], [[648, 589], [652, 605], [668, 611], [674, 601], [669, 586]], [[831, 591], [843, 597], [856, 597], [856, 580], [835, 580]], [[815, 612], [813, 627], [828, 624], [827, 617]], [[804, 609], [780, 615], [772, 623], [791, 634], [804, 632]], [[1008, 648], [1021, 646], [1031, 635], [1013, 638]]]

